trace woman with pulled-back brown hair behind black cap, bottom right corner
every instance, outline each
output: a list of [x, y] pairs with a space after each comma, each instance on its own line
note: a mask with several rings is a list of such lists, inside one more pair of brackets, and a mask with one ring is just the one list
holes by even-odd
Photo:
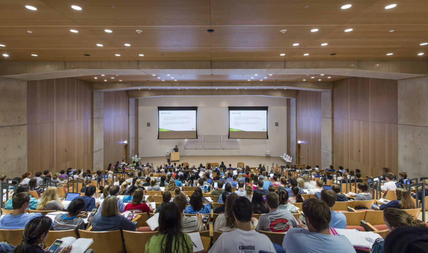
[[[390, 232], [398, 227], [426, 227], [425, 222], [418, 220], [406, 211], [396, 208], [383, 210], [383, 220]], [[383, 238], [376, 239], [371, 252], [382, 253], [384, 241]]]

